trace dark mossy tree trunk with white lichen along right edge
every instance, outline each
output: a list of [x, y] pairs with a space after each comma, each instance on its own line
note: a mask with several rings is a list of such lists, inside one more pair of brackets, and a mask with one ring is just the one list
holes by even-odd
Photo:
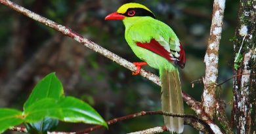
[[234, 40], [233, 117], [237, 133], [256, 131], [256, 1], [241, 0]]

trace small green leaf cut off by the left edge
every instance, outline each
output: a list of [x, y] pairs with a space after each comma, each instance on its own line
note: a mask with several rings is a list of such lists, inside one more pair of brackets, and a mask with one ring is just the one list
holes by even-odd
[[22, 124], [22, 112], [15, 109], [0, 109], [0, 133], [9, 127]]

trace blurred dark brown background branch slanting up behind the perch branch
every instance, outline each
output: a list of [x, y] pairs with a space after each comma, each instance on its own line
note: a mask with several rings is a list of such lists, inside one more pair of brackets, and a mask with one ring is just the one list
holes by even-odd
[[[85, 21], [78, 21], [81, 18], [82, 12], [85, 12], [91, 8], [98, 7], [97, 2], [94, 0], [85, 1], [81, 6], [67, 15], [65, 25], [81, 25]], [[31, 21], [30, 21], [31, 22]], [[23, 29], [24, 27], [22, 27]], [[74, 29], [81, 29], [81, 27], [74, 27]], [[13, 101], [13, 99], [18, 95], [21, 90], [24, 88], [24, 84], [28, 83], [28, 80], [32, 79], [32, 76], [35, 75], [37, 69], [42, 65], [45, 65], [47, 61], [56, 54], [56, 51], [59, 50], [60, 46], [65, 41], [62, 33], [56, 33], [51, 37], [51, 39], [43, 42], [41, 48], [35, 52], [32, 58], [28, 59], [26, 63], [23, 63], [22, 66], [14, 73], [14, 76], [9, 78], [7, 82], [0, 86], [0, 107], [5, 107]], [[75, 75], [75, 74], [74, 74]]]

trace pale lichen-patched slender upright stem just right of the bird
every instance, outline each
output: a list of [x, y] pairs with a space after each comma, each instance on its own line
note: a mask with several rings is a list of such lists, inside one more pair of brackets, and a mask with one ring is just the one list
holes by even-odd
[[[205, 54], [205, 78], [203, 83], [205, 87], [209, 84], [217, 83], [218, 62], [219, 62], [219, 42], [221, 40], [221, 31], [223, 26], [225, 0], [215, 0], [213, 3], [213, 20], [211, 22], [211, 32], [208, 41], [208, 47]], [[215, 86], [209, 86], [203, 90], [202, 101], [203, 109], [213, 118], [215, 112]]]

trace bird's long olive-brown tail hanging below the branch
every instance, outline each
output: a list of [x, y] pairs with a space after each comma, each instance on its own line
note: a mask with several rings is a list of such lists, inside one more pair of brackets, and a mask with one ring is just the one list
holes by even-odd
[[[184, 106], [181, 95], [181, 82], [179, 71], [160, 69], [161, 79], [161, 107], [164, 112], [184, 114]], [[163, 116], [165, 126], [171, 132], [182, 133], [184, 118]]]

